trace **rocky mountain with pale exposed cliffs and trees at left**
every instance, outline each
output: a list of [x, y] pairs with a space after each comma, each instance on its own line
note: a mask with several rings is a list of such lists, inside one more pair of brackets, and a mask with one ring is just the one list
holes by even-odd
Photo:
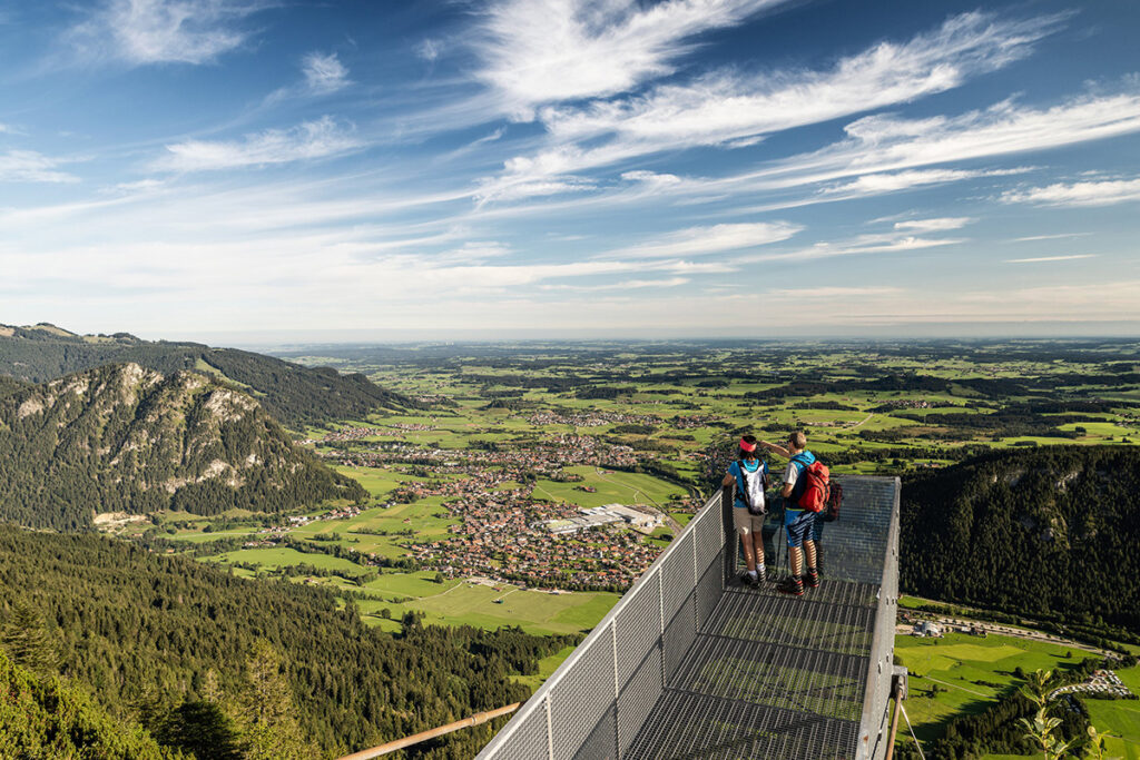
[[364, 496], [251, 397], [111, 365], [0, 398], [0, 520], [81, 530], [100, 512], [277, 512]]

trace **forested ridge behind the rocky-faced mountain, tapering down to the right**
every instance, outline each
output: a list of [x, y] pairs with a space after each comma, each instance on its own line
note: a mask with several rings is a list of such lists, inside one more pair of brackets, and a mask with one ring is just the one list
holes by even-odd
[[[300, 430], [306, 424], [352, 419], [376, 409], [416, 403], [386, 391], [364, 375], [341, 375], [327, 367], [302, 367], [237, 349], [199, 343], [142, 341], [128, 333], [76, 335], [52, 325], [0, 325], [0, 375], [43, 383], [113, 362], [141, 365], [173, 374], [189, 369], [214, 375], [255, 395], [278, 422]], [[3, 386], [0, 385], [0, 395]]]

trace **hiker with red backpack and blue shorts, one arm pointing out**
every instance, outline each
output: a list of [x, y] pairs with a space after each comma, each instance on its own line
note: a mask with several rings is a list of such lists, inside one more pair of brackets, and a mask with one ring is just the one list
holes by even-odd
[[[815, 461], [815, 455], [807, 450], [807, 436], [800, 431], [788, 436], [788, 448], [767, 441], [760, 442], [760, 447], [788, 459], [780, 495], [787, 500], [784, 528], [788, 533], [788, 564], [791, 565], [791, 578], [781, 583], [779, 590], [803, 596], [804, 583], [809, 588], [820, 586], [820, 573], [815, 564], [815, 542], [823, 532], [823, 513], [797, 506], [804, 493], [804, 487], [807, 485], [806, 479], [800, 475]], [[804, 555], [807, 555], [807, 573], [801, 577]]]

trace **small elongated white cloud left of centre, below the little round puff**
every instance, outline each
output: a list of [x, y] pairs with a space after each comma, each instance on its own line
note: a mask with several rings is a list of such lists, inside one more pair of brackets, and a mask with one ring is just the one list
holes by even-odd
[[264, 166], [333, 156], [360, 147], [351, 130], [323, 116], [290, 130], [266, 130], [237, 141], [187, 140], [168, 145], [168, 155], [156, 161], [154, 167], [193, 172]]

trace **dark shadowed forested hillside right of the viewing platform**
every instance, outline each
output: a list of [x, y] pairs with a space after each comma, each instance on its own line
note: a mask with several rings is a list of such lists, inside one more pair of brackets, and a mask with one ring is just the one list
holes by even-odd
[[905, 591], [1140, 632], [1140, 450], [994, 452], [903, 485]]

